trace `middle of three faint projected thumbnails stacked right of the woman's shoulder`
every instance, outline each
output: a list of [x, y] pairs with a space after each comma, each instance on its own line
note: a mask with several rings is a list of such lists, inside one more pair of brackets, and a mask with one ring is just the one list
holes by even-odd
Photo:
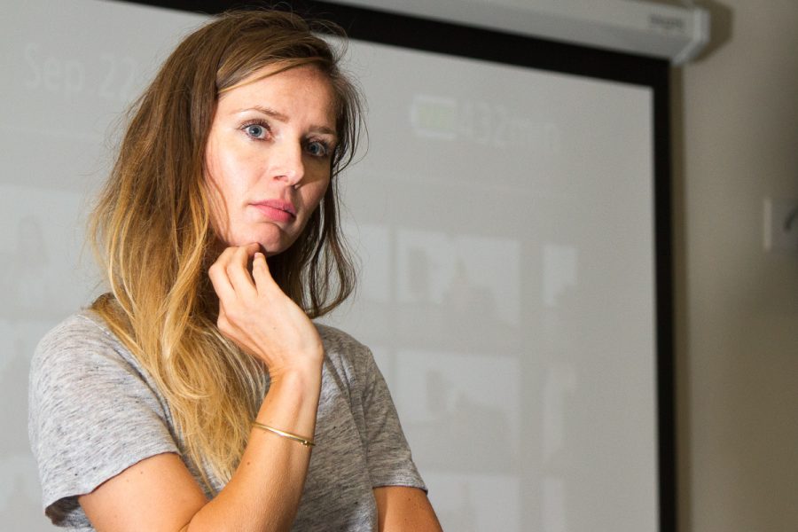
[[399, 349], [395, 364], [396, 408], [419, 463], [513, 473], [520, 452], [517, 358]]

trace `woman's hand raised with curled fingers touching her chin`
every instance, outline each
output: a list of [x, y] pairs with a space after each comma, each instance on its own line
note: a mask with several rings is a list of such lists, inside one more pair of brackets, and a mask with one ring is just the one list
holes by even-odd
[[[246, 267], [250, 257], [252, 275]], [[208, 275], [219, 296], [219, 330], [262, 360], [271, 379], [318, 369], [324, 348], [316, 327], [271, 277], [258, 244], [228, 247]]]

